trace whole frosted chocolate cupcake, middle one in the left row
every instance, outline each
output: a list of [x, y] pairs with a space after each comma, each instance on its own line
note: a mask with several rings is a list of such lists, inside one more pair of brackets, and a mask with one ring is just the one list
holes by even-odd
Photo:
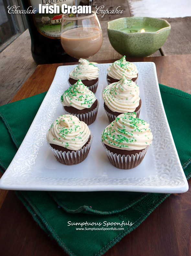
[[62, 94], [61, 103], [66, 114], [77, 116], [87, 125], [96, 120], [99, 102], [80, 79]]

